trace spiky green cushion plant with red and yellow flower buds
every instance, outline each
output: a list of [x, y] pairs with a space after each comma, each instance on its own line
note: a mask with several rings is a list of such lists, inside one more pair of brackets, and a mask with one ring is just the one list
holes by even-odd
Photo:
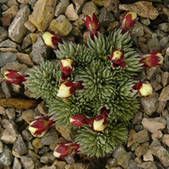
[[[74, 130], [73, 143], [60, 143], [55, 148], [57, 158], [77, 152], [105, 157], [126, 142], [127, 127], [139, 109], [138, 96], [149, 97], [153, 92], [149, 82], [138, 82], [135, 76], [144, 65], [162, 62], [158, 52], [141, 57], [132, 47], [127, 30], [134, 26], [136, 17], [127, 13], [122, 27], [105, 36], [99, 32], [96, 16], [86, 16], [87, 45], [44, 33], [43, 40], [55, 49], [56, 59], [34, 67], [25, 85], [37, 98], [45, 99], [50, 120]], [[46, 123], [42, 126], [46, 131]], [[38, 129], [33, 132], [41, 134]]]

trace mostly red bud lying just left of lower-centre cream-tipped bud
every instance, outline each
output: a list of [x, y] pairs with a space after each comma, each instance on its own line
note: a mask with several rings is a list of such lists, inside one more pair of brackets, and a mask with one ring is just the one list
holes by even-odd
[[70, 123], [76, 127], [83, 127], [88, 124], [88, 119], [82, 114], [76, 114], [70, 118]]

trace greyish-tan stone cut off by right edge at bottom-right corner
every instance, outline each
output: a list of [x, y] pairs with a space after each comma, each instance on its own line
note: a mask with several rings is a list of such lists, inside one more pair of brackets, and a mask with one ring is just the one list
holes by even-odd
[[164, 147], [152, 146], [151, 151], [165, 167], [169, 167], [169, 152]]

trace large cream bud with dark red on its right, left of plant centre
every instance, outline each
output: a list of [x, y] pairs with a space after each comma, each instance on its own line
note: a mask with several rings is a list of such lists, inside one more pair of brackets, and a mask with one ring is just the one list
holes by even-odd
[[72, 96], [76, 91], [76, 87], [72, 81], [65, 81], [61, 83], [59, 90], [58, 90], [58, 97], [61, 98], [68, 98]]

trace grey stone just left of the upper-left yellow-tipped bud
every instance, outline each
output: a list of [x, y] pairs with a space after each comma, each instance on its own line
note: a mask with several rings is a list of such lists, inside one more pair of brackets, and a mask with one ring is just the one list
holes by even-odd
[[39, 37], [36, 43], [33, 44], [31, 56], [33, 62], [36, 64], [43, 62], [44, 57], [47, 56], [47, 48], [41, 37]]

